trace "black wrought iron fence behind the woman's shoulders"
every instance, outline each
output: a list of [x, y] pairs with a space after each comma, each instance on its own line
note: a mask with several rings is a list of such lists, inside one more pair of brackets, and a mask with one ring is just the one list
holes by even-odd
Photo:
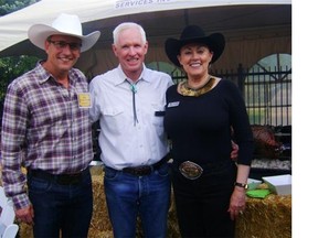
[[[245, 99], [251, 125], [292, 126], [292, 69], [253, 67], [215, 71], [214, 76], [234, 82]], [[174, 72], [174, 83], [186, 75]]]

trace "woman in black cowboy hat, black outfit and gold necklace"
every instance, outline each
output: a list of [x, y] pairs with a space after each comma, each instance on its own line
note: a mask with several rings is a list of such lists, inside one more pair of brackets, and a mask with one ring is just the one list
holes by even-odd
[[[234, 237], [245, 209], [253, 136], [244, 100], [231, 82], [209, 74], [225, 46], [220, 33], [187, 26], [166, 41], [188, 79], [167, 90], [165, 128], [172, 141], [172, 183], [182, 237]], [[231, 128], [240, 147], [231, 160]]]

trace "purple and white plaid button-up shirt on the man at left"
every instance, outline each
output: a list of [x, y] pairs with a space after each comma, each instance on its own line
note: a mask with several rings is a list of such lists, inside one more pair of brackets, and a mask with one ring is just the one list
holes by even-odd
[[15, 208], [30, 204], [21, 165], [53, 174], [78, 173], [93, 159], [88, 108], [78, 101], [78, 95], [88, 93], [88, 84], [75, 68], [68, 78], [66, 89], [38, 64], [8, 87], [1, 132], [2, 182]]

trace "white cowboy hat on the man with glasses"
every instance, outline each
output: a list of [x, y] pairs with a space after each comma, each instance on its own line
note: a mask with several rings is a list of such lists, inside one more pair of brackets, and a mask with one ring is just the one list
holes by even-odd
[[45, 50], [44, 43], [50, 35], [71, 35], [82, 40], [81, 52], [89, 50], [99, 39], [100, 32], [95, 31], [83, 35], [80, 18], [74, 14], [61, 13], [50, 25], [34, 24], [28, 31], [29, 40], [38, 47]]

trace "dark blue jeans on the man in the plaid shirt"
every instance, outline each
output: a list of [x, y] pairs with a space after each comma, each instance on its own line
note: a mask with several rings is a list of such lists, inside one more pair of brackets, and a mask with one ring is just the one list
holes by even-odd
[[28, 176], [29, 197], [34, 208], [35, 238], [87, 237], [93, 214], [92, 177], [86, 170], [76, 185]]

